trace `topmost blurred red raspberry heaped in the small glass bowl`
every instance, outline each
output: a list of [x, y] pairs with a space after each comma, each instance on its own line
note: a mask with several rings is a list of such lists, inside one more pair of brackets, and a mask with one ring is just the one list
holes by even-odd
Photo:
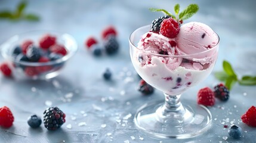
[[56, 42], [55, 36], [52, 35], [44, 35], [41, 39], [39, 39], [39, 46], [43, 49], [48, 49], [50, 46], [54, 45]]

